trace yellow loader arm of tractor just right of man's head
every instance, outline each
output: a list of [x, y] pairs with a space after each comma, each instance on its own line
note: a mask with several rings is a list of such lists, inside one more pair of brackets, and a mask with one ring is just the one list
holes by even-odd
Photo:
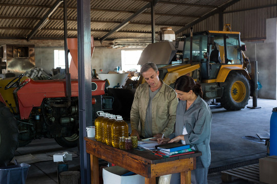
[[[166, 67], [167, 68], [167, 67]], [[170, 85], [176, 81], [177, 78], [192, 73], [193, 71], [197, 70], [200, 68], [200, 64], [181, 64], [180, 66], [175, 66], [170, 67], [170, 70], [168, 70], [168, 73], [166, 74], [165, 78], [163, 81], [167, 84]], [[175, 69], [175, 70], [173, 70]]]

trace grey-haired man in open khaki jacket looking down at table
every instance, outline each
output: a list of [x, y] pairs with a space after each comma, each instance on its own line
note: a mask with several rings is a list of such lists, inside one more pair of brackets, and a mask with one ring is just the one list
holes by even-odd
[[130, 113], [131, 136], [138, 139], [159, 138], [164, 134], [164, 137], [168, 137], [173, 132], [176, 120], [176, 93], [159, 79], [159, 71], [154, 63], [145, 63], [141, 67], [141, 75], [146, 83], [135, 91]]

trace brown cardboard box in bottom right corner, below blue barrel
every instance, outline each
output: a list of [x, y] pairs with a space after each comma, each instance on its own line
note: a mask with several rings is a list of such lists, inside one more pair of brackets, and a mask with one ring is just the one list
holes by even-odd
[[277, 181], [277, 156], [267, 156], [259, 159], [260, 181], [275, 184]]

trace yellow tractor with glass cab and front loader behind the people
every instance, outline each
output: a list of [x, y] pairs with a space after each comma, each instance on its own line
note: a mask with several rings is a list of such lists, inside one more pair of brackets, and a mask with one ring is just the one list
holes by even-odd
[[[240, 110], [248, 104], [252, 83], [245, 50], [240, 32], [227, 29], [192, 34], [191, 30], [182, 42], [149, 44], [138, 64], [156, 63], [160, 78], [172, 87], [178, 77], [189, 75], [201, 83], [203, 99], [216, 99], [227, 110]], [[138, 84], [143, 82], [141, 77]]]

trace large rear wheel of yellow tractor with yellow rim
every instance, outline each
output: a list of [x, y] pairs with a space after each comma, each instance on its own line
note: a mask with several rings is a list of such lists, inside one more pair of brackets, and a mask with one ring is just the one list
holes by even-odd
[[243, 74], [231, 72], [223, 86], [222, 107], [227, 110], [241, 110], [248, 104], [250, 85]]

